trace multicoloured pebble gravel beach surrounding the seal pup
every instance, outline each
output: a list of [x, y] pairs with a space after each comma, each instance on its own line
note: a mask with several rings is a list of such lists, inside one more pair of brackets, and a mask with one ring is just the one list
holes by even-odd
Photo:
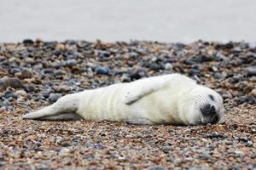
[[[256, 48], [247, 42], [0, 44], [0, 168], [255, 169]], [[64, 94], [180, 72], [224, 97], [224, 122], [22, 120]]]

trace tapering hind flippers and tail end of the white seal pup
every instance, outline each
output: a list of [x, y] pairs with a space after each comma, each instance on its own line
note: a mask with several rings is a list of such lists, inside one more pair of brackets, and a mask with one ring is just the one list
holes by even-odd
[[58, 99], [53, 105], [26, 114], [22, 116], [22, 118], [39, 120], [77, 120], [81, 118], [76, 114], [78, 108], [79, 94], [68, 94]]

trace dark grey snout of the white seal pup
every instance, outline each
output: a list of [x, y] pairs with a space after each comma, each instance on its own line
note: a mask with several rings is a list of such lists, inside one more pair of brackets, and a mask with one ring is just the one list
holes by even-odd
[[203, 105], [201, 107], [201, 114], [203, 116], [203, 121], [202, 123], [217, 123], [219, 121], [219, 116], [218, 112], [216, 111], [216, 108], [214, 105]]

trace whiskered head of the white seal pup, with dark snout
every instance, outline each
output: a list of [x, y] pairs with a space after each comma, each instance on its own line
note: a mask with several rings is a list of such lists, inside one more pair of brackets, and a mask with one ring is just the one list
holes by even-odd
[[189, 124], [217, 123], [224, 116], [222, 97], [211, 88], [197, 86], [187, 94], [185, 114]]

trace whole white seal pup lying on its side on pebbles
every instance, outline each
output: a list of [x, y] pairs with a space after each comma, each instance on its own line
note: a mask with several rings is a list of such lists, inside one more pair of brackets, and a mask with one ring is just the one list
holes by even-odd
[[170, 74], [67, 94], [23, 118], [198, 125], [219, 122], [223, 116], [218, 93], [189, 77]]

